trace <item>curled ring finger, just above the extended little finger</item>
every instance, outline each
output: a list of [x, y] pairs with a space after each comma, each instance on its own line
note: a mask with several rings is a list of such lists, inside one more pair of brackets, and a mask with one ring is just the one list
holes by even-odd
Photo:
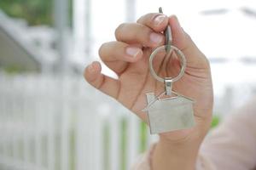
[[102, 61], [118, 75], [125, 71], [127, 62], [136, 62], [143, 57], [143, 50], [125, 42], [106, 42], [99, 49]]

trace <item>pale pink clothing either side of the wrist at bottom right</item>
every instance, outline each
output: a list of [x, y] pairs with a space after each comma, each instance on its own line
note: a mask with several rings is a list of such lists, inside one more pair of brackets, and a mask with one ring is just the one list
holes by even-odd
[[[150, 170], [148, 150], [132, 170]], [[256, 170], [256, 99], [221, 123], [201, 145], [196, 170]]]

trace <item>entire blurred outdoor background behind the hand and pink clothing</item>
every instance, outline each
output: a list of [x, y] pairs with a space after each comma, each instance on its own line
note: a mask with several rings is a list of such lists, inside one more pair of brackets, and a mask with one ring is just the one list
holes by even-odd
[[211, 62], [212, 127], [255, 95], [253, 0], [1, 0], [1, 170], [131, 167], [158, 137], [82, 73], [120, 23], [160, 6]]

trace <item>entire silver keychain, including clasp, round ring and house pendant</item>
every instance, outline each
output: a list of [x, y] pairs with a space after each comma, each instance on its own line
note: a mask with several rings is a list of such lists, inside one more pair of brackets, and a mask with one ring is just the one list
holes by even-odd
[[[162, 8], [159, 8], [159, 12], [163, 13]], [[156, 80], [165, 83], [166, 87], [165, 91], [158, 96], [155, 96], [154, 93], [146, 94], [148, 105], [143, 111], [148, 112], [151, 134], [172, 132], [195, 125], [193, 111], [194, 100], [172, 91], [172, 83], [183, 77], [186, 69], [186, 58], [181, 50], [172, 46], [172, 31], [170, 26], [166, 27], [164, 34], [166, 36], [166, 45], [156, 48], [149, 57], [149, 70], [151, 75]], [[157, 54], [163, 51], [166, 54], [165, 57], [171, 55], [172, 51], [174, 51], [177, 57], [181, 59], [181, 71], [177, 77], [162, 78], [155, 73], [153, 59]], [[164, 96], [167, 96], [167, 98], [161, 99]]]

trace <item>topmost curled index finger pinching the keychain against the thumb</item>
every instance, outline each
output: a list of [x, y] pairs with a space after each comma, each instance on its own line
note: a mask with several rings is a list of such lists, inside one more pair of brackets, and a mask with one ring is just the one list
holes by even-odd
[[165, 14], [149, 13], [143, 15], [137, 23], [148, 26], [156, 32], [164, 31], [168, 25], [168, 17]]

